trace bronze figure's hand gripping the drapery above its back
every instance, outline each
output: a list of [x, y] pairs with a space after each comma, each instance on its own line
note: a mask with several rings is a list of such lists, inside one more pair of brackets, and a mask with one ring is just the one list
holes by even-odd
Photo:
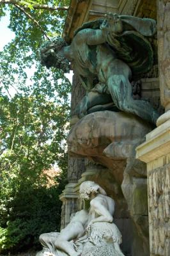
[[100, 26], [100, 29], [109, 31], [111, 33], [121, 33], [123, 31], [123, 24], [121, 17], [116, 13], [108, 13], [105, 15], [105, 20]]

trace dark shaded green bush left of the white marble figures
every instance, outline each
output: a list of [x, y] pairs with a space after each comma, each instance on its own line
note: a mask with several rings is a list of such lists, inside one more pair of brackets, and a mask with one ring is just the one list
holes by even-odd
[[[30, 184], [29, 184], [30, 186]], [[12, 252], [40, 246], [38, 236], [44, 232], [59, 231], [61, 202], [58, 186], [52, 188], [27, 188], [22, 186], [9, 203], [10, 217], [6, 228], [0, 228], [0, 248], [2, 252]], [[57, 222], [58, 221], [58, 222]], [[12, 250], [13, 249], [13, 250]]]

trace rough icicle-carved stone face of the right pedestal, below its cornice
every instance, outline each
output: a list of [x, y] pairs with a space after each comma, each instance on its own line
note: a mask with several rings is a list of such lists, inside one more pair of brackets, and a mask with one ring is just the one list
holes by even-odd
[[148, 170], [150, 253], [154, 256], [170, 255], [170, 155], [164, 161], [164, 166]]

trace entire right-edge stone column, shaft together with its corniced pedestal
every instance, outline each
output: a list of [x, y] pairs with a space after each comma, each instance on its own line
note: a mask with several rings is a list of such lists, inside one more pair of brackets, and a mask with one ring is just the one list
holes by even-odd
[[165, 113], [136, 148], [147, 163], [150, 255], [170, 255], [170, 1], [157, 0], [160, 99]]

